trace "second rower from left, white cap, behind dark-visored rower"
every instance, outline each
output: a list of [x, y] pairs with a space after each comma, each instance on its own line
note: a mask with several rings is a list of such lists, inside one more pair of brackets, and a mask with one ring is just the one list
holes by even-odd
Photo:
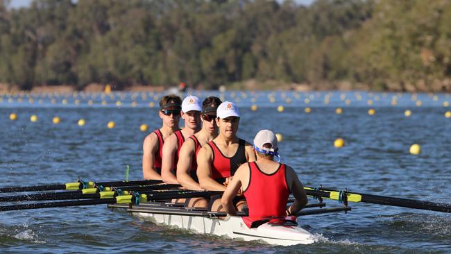
[[183, 99], [181, 116], [185, 127], [169, 136], [163, 146], [161, 177], [164, 183], [178, 184], [175, 176], [178, 154], [185, 139], [201, 130], [201, 111], [201, 101], [196, 96]]

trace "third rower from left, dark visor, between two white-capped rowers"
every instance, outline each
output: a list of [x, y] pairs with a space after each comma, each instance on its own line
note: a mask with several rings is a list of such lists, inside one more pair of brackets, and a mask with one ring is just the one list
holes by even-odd
[[[197, 154], [201, 146], [207, 144], [218, 135], [216, 126], [216, 110], [221, 104], [218, 97], [210, 96], [202, 102], [202, 129], [189, 137], [180, 149], [177, 163], [177, 180], [186, 189], [202, 190], [197, 178]], [[188, 198], [185, 202], [189, 207], [206, 207], [205, 198]]]

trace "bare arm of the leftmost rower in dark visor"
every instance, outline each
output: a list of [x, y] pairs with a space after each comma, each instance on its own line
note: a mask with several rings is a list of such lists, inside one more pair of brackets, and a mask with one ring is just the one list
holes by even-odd
[[148, 180], [161, 180], [155, 169], [155, 152], [158, 148], [158, 137], [155, 133], [147, 135], [142, 144], [142, 176]]

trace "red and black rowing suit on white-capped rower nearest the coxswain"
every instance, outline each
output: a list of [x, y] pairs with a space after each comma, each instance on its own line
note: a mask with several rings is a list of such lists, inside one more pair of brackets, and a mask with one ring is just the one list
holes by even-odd
[[232, 157], [226, 157], [225, 155], [223, 155], [218, 146], [214, 144], [213, 140], [208, 142], [207, 144], [212, 148], [213, 151], [212, 178], [218, 183], [224, 183], [226, 181], [226, 178], [235, 174], [235, 171], [237, 171], [238, 167], [241, 164], [247, 162], [246, 151], [244, 149], [246, 141], [244, 141], [244, 139], [238, 140], [237, 152]]

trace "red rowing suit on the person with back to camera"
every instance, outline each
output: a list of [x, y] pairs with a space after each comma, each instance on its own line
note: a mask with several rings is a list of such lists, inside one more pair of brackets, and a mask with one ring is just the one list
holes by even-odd
[[259, 169], [257, 163], [249, 162], [249, 185], [244, 190], [249, 217], [243, 221], [250, 227], [253, 221], [285, 217], [289, 194], [285, 164], [280, 164], [274, 173], [267, 174]]

